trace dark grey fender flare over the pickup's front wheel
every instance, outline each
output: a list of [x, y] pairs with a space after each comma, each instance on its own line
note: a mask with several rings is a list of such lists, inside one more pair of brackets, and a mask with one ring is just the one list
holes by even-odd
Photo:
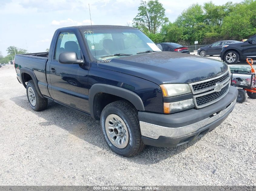
[[106, 93], [115, 95], [118, 97], [122, 97], [129, 102], [131, 102], [134, 107], [137, 110], [145, 111], [144, 104], [141, 100], [141, 98], [135, 94], [134, 92], [127, 90], [125, 88], [108, 85], [108, 84], [94, 84], [91, 86], [91, 89], [89, 91], [89, 107], [90, 107], [90, 113], [91, 116], [95, 119], [97, 116], [96, 112], [94, 111], [94, 101], [95, 101], [95, 95], [98, 93]]

